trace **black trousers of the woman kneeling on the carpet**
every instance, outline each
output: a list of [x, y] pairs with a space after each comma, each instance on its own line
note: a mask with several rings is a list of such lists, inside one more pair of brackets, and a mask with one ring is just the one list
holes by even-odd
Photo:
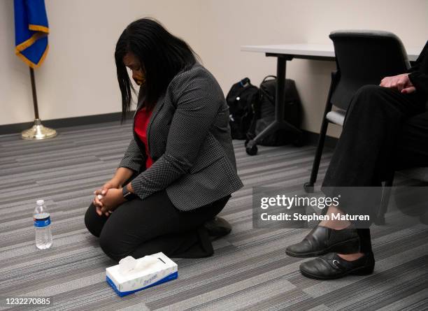
[[115, 261], [157, 252], [169, 257], [206, 257], [214, 251], [204, 222], [215, 217], [229, 198], [183, 212], [173, 205], [166, 191], [159, 191], [144, 200], [122, 203], [109, 216], [99, 216], [91, 203], [85, 224], [99, 237], [101, 249]]

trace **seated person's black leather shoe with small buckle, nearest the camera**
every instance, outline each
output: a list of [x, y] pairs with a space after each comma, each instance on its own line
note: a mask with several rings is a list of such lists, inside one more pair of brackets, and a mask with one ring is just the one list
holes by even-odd
[[345, 275], [369, 275], [373, 273], [374, 264], [372, 252], [354, 261], [347, 261], [336, 253], [329, 253], [302, 263], [300, 272], [311, 279], [333, 280]]

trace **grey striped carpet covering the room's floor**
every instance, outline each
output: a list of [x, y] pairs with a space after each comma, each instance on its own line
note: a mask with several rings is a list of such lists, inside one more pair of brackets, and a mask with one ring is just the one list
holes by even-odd
[[[107, 284], [108, 259], [87, 232], [83, 215], [92, 191], [111, 177], [131, 127], [117, 123], [59, 129], [51, 140], [0, 136], [0, 296], [50, 296], [43, 310], [424, 310], [428, 303], [428, 231], [373, 227], [376, 273], [321, 282], [303, 277], [285, 247], [304, 229], [252, 229], [252, 187], [301, 187], [315, 148], [259, 147], [245, 154], [234, 141], [237, 191], [220, 215], [233, 231], [206, 259], [176, 259], [179, 277], [120, 298]], [[331, 151], [324, 152], [320, 180]], [[43, 198], [54, 245], [34, 245], [32, 213]], [[0, 308], [6, 310], [4, 306]], [[23, 306], [8, 310], [41, 310]]]

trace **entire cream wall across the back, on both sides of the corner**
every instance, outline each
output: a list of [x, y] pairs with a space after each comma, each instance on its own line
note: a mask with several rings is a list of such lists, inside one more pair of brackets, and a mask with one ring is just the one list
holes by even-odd
[[[120, 111], [113, 51], [124, 27], [156, 17], [184, 38], [213, 72], [224, 93], [248, 76], [259, 84], [276, 60], [241, 52], [241, 45], [328, 43], [334, 29], [383, 29], [406, 46], [428, 39], [428, 1], [343, 0], [45, 0], [50, 52], [36, 71], [43, 120]], [[13, 1], [0, 1], [0, 124], [33, 119], [28, 68], [13, 53]], [[6, 44], [4, 44], [6, 43]], [[294, 59], [304, 104], [304, 129], [318, 132], [334, 62]], [[336, 136], [339, 133], [331, 131]]]

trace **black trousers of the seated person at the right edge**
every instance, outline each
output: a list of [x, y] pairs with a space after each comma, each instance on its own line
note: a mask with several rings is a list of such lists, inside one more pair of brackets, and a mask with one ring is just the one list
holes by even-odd
[[[322, 183], [335, 187], [378, 187], [354, 195], [339, 208], [349, 214], [377, 215], [382, 189], [395, 170], [428, 166], [428, 112], [417, 92], [367, 85], [352, 98], [341, 137]], [[377, 190], [376, 190], [377, 189]], [[370, 229], [358, 229], [362, 252], [371, 251]]]

